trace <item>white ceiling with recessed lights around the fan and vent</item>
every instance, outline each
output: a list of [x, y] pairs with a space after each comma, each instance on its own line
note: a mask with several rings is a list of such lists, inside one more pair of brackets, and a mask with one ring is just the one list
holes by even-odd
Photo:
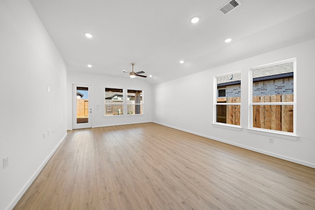
[[151, 85], [315, 38], [315, 0], [30, 1], [68, 71], [128, 78], [135, 62]]

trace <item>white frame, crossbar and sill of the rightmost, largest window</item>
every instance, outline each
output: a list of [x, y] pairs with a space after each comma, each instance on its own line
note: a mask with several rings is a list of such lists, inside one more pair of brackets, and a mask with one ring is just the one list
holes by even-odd
[[[264, 68], [273, 65], [284, 64], [288, 62], [293, 62], [293, 102], [265, 102], [265, 103], [253, 103], [252, 102], [252, 71], [259, 68]], [[265, 65], [256, 66], [250, 68], [250, 81], [249, 81], [249, 128], [248, 131], [250, 133], [273, 136], [278, 138], [285, 138], [290, 140], [296, 140], [298, 136], [296, 135], [296, 58], [282, 60], [278, 62], [268, 63]], [[264, 129], [264, 128], [256, 128], [253, 127], [253, 105], [293, 105], [293, 132], [285, 132], [285, 131], [278, 131], [278, 130], [271, 130], [271, 129]]]

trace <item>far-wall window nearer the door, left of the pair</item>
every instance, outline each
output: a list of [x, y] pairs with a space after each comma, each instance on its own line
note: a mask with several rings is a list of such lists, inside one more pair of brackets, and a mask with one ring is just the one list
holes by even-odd
[[124, 114], [124, 90], [105, 88], [105, 116]]

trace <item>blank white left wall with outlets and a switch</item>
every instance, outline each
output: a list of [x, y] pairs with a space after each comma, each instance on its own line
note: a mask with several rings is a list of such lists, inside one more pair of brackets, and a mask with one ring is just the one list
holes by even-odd
[[65, 90], [66, 65], [31, 3], [1, 0], [1, 210], [14, 207], [65, 137]]

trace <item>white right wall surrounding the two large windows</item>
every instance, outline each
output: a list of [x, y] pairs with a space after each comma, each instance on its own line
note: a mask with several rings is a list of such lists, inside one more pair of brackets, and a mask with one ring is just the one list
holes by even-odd
[[[315, 168], [314, 55], [315, 40], [310, 40], [154, 86], [153, 121]], [[249, 68], [291, 58], [297, 58], [294, 76], [299, 138], [296, 141], [275, 138], [272, 144], [268, 135], [249, 133], [246, 129], [249, 127]], [[212, 124], [214, 77], [238, 70], [242, 73], [241, 131]]]

